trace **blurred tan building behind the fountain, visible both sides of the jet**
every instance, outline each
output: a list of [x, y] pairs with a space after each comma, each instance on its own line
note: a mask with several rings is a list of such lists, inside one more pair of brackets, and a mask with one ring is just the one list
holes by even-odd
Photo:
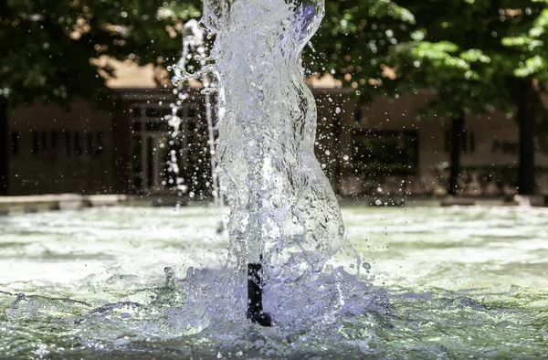
[[[148, 195], [185, 189], [185, 194], [209, 196], [203, 95], [188, 90], [189, 99], [178, 112], [181, 133], [173, 138], [164, 118], [172, 113], [174, 95], [155, 87], [152, 72], [123, 69], [110, 83], [115, 99], [111, 111], [78, 100], [70, 111], [39, 102], [16, 110], [8, 120], [9, 194]], [[319, 109], [316, 154], [341, 196], [446, 193], [450, 123], [416, 120], [427, 95], [358, 106], [350, 90], [331, 79], [313, 79], [311, 86]], [[469, 116], [461, 194], [516, 193], [517, 141], [512, 119], [497, 113]], [[166, 164], [174, 153], [178, 176]], [[540, 139], [535, 163], [538, 191], [548, 193], [548, 144]]]

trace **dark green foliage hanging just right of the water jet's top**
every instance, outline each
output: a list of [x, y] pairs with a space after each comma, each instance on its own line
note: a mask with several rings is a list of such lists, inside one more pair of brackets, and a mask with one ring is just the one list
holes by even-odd
[[381, 59], [409, 33], [415, 17], [391, 0], [329, 0], [321, 28], [305, 54], [308, 69], [331, 72], [365, 99], [391, 92]]

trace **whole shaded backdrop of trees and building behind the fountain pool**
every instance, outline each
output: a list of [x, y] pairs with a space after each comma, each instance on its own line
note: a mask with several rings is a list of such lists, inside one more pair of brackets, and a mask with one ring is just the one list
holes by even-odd
[[[211, 197], [202, 84], [181, 100], [168, 71], [200, 2], [0, 6], [0, 194]], [[548, 193], [547, 16], [541, 1], [328, 1], [304, 67], [336, 194]]]

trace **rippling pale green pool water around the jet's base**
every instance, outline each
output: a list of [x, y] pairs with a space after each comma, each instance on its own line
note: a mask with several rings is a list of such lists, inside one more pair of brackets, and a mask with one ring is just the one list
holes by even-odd
[[548, 354], [546, 209], [344, 208], [342, 215], [367, 261], [360, 281], [337, 270], [352, 270], [353, 259], [343, 257], [306, 281], [270, 281], [273, 328], [246, 319], [246, 289], [223, 270], [228, 240], [216, 233], [213, 210], [0, 217], [0, 357]]

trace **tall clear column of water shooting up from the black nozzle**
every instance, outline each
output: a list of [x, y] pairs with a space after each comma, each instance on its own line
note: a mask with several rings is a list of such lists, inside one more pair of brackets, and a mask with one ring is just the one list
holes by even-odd
[[302, 49], [321, 0], [205, 0], [211, 62], [224, 118], [217, 162], [231, 207], [238, 268], [262, 258], [270, 276], [316, 272], [342, 244], [341, 212], [314, 155], [316, 105]]

